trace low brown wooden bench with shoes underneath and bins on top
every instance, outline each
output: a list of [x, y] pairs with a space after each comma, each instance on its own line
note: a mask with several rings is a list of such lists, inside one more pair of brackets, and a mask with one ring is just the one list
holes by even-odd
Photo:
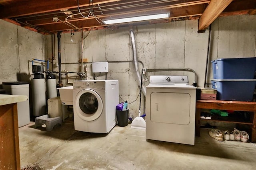
[[[197, 100], [196, 101], [196, 129], [195, 135], [200, 136], [200, 113], [201, 109], [219, 109], [219, 110], [234, 110], [234, 111], [250, 111], [250, 121], [242, 119], [227, 119], [218, 120], [211, 119], [207, 121], [221, 121], [226, 123], [246, 124], [251, 127], [249, 132], [249, 140], [256, 143], [256, 102], [240, 102], [240, 101], [224, 101], [224, 100]], [[204, 119], [205, 120], [205, 119]]]

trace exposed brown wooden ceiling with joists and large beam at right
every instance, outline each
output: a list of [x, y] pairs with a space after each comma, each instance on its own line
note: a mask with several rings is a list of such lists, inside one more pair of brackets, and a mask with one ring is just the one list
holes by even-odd
[[[0, 11], [0, 19], [18, 22], [22, 27], [32, 27], [44, 33], [70, 29], [104, 29], [109, 25], [101, 20], [166, 12], [170, 12], [169, 18], [132, 24], [196, 19], [199, 20], [198, 32], [201, 32], [218, 16], [255, 15], [256, 0], [0, 0]], [[128, 24], [111, 27], [118, 28]]]

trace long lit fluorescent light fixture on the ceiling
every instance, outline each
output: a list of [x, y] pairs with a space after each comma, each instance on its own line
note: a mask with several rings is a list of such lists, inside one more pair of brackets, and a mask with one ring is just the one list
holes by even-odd
[[120, 18], [114, 20], [105, 20], [103, 21], [105, 24], [113, 24], [113, 23], [125, 23], [125, 22], [134, 22], [134, 21], [144, 21], [144, 20], [155, 20], [162, 18], [169, 18], [170, 13], [166, 14], [154, 14], [148, 16], [138, 16], [138, 17], [130, 17], [130, 18]]

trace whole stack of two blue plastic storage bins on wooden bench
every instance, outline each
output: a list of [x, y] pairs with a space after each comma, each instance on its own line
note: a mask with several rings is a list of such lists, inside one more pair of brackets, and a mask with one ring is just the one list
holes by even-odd
[[212, 61], [212, 86], [217, 100], [252, 101], [256, 79], [256, 57]]

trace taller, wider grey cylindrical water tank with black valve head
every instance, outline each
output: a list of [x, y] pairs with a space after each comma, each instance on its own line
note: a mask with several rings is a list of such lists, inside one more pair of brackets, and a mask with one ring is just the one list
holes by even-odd
[[41, 116], [46, 114], [46, 87], [44, 74], [34, 74], [32, 79], [33, 115]]

